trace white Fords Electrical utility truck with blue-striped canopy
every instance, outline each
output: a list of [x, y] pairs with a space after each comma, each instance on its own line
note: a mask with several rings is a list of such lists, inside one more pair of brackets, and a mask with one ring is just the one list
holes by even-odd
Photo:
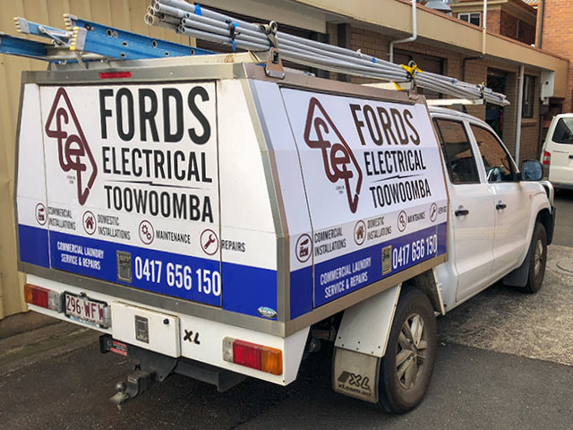
[[542, 285], [538, 161], [520, 172], [475, 117], [277, 52], [54, 62], [22, 74], [16, 144], [26, 301], [139, 360], [117, 404], [173, 373], [286, 385], [332, 341], [335, 391], [405, 412], [435, 315]]

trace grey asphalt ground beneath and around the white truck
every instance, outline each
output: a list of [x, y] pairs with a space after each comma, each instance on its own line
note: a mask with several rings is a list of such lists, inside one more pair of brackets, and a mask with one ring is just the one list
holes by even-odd
[[[438, 319], [439, 349], [423, 403], [385, 414], [330, 388], [331, 347], [287, 387], [249, 379], [218, 393], [174, 375], [116, 409], [131, 366], [98, 352], [98, 335], [57, 323], [0, 340], [0, 428], [573, 428], [573, 193], [558, 193], [543, 289], [488, 288]], [[569, 245], [569, 246], [568, 246]]]

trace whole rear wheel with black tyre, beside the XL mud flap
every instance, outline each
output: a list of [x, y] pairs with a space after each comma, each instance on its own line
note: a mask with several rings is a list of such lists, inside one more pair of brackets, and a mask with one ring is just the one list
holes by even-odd
[[437, 348], [430, 300], [419, 289], [406, 287], [398, 300], [386, 355], [381, 359], [379, 404], [383, 409], [403, 414], [423, 400]]

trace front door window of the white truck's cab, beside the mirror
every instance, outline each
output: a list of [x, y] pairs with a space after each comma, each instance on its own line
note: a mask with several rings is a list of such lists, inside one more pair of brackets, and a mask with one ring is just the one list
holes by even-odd
[[482, 153], [483, 167], [487, 182], [511, 182], [515, 180], [514, 168], [508, 152], [501, 146], [497, 137], [478, 125], [470, 125], [477, 147]]

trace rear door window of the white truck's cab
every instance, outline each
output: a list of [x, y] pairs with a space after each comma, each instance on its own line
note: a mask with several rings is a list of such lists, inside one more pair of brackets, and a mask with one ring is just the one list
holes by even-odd
[[433, 120], [452, 184], [479, 184], [475, 156], [464, 125], [459, 121]]

